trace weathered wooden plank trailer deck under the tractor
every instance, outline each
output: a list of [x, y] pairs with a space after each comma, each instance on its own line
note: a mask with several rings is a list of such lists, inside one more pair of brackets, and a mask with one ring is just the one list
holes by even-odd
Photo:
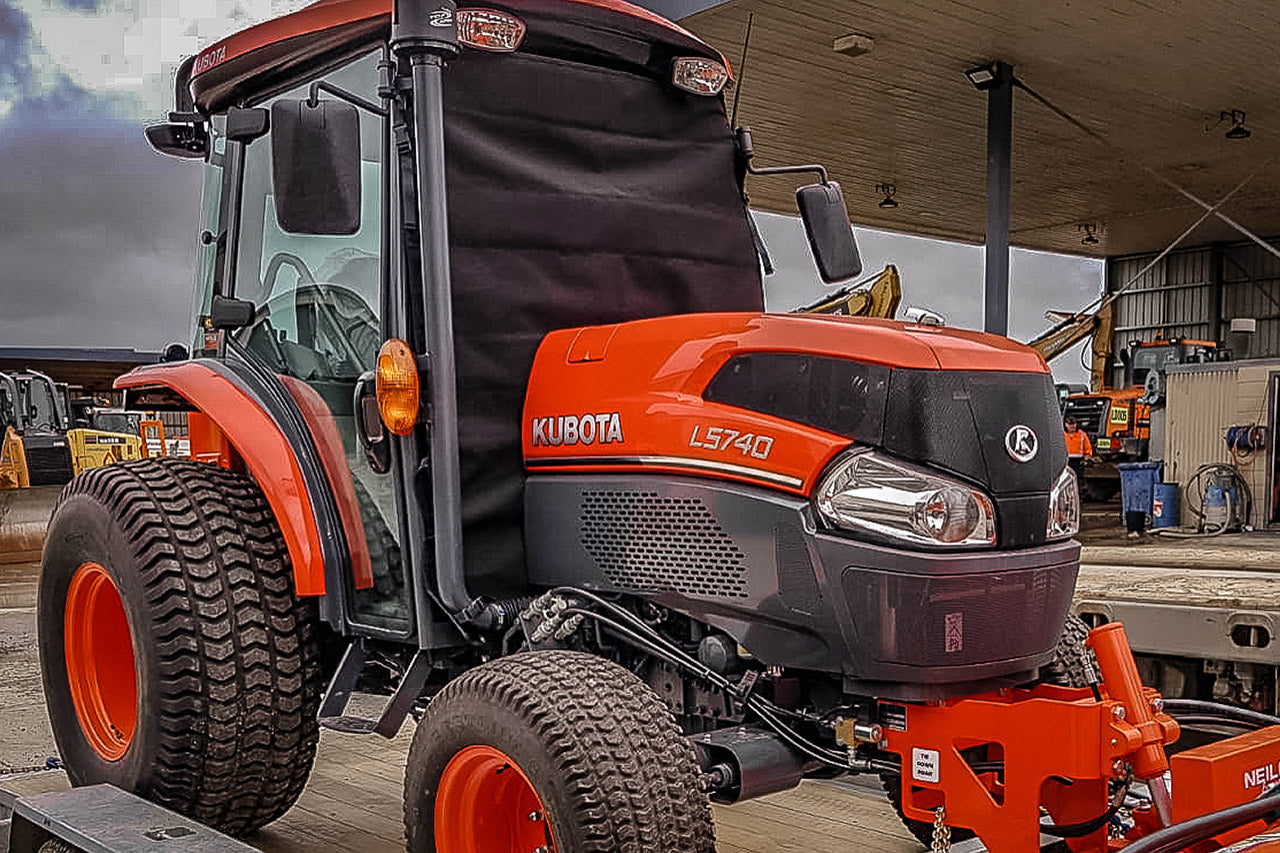
[[[298, 804], [246, 839], [265, 853], [396, 853], [404, 849], [401, 792], [412, 727], [394, 740], [321, 734], [320, 756]], [[6, 780], [35, 794], [67, 788], [60, 772]], [[719, 853], [909, 853], [920, 850], [872, 780], [804, 783], [732, 807], [716, 807]]]

